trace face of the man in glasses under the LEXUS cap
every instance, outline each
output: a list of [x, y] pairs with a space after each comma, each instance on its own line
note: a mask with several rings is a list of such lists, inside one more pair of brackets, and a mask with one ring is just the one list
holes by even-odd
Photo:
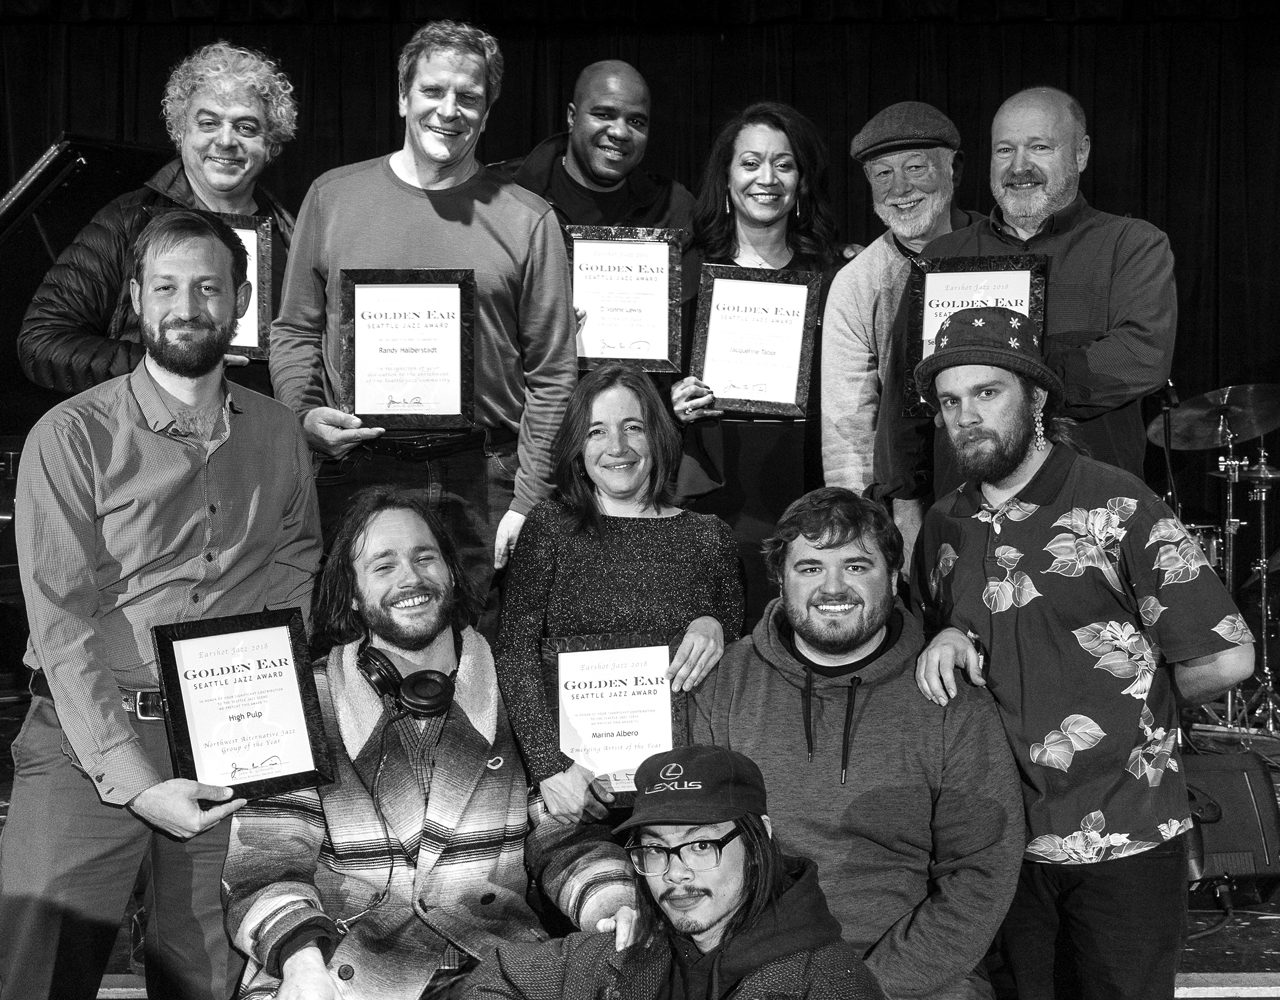
[[[700, 837], [718, 840], [733, 828], [732, 821], [707, 826], [646, 826], [640, 844], [673, 848]], [[694, 939], [705, 954], [724, 935], [724, 926], [746, 899], [746, 848], [741, 837], [724, 845], [721, 862], [705, 872], [692, 872], [680, 858], [672, 858], [666, 875], [641, 876], [649, 892], [680, 933]]]

